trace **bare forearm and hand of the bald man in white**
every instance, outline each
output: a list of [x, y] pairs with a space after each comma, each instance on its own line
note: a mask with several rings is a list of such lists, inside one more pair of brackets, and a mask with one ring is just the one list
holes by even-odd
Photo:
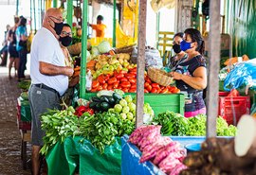
[[41, 74], [44, 74], [47, 76], [64, 75], [64, 76], [71, 77], [74, 73], [74, 70], [72, 67], [58, 66], [58, 65], [54, 65], [44, 61], [39, 61], [39, 71]]

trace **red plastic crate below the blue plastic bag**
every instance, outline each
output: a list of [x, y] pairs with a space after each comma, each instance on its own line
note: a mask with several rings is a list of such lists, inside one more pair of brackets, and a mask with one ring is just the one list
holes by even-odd
[[[249, 96], [219, 96], [219, 115], [230, 124], [236, 125], [243, 114], [249, 114]], [[236, 121], [233, 121], [235, 117]]]

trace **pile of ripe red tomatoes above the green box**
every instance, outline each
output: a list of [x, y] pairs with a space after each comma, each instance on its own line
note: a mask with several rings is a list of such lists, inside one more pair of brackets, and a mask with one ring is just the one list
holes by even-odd
[[[132, 68], [127, 71], [115, 71], [113, 75], [101, 75], [92, 81], [91, 92], [98, 92], [101, 90], [120, 89], [124, 93], [136, 93], [137, 91], [137, 68]], [[145, 74], [144, 93], [155, 94], [175, 94], [179, 93], [179, 89], [175, 86], [161, 86], [153, 82]]]

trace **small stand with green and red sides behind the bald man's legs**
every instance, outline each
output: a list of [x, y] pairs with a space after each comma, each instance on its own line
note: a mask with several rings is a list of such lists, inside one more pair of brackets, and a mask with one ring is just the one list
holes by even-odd
[[17, 125], [21, 133], [21, 159], [23, 168], [27, 168], [27, 142], [30, 142], [31, 114], [28, 100], [17, 98]]

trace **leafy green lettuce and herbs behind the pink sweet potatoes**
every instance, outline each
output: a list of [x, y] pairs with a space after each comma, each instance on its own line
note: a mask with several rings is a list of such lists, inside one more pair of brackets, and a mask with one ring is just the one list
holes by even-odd
[[[186, 118], [181, 114], [166, 112], [158, 114], [153, 120], [153, 124], [161, 125], [162, 134], [175, 136], [204, 136], [206, 135], [206, 115], [199, 114], [194, 117]], [[227, 121], [221, 116], [217, 117], [217, 135], [234, 136], [236, 127], [228, 125]]]

